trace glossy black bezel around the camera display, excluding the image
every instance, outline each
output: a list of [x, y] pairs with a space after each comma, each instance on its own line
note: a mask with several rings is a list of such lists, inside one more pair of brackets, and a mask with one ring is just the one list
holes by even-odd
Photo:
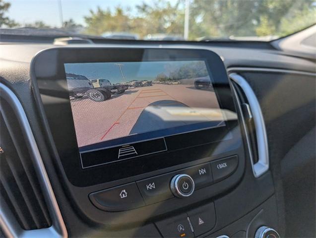
[[[67, 85], [64, 63], [188, 59], [205, 61], [220, 108], [236, 113], [224, 64], [220, 57], [211, 51], [157, 48], [56, 48], [43, 51], [34, 58], [33, 71], [50, 130], [63, 169], [73, 185], [89, 186], [110, 182], [202, 159], [206, 150], [211, 151], [212, 147], [216, 147], [216, 144], [238, 125], [238, 120], [225, 121], [226, 125], [221, 127], [171, 136], [174, 138], [169, 143], [173, 146], [173, 151], [176, 151], [176, 154], [173, 151], [168, 151], [110, 165], [82, 169], [69, 94], [67, 88], [64, 87]], [[52, 67], [49, 73], [45, 73], [42, 68], [47, 68], [48, 62]], [[58, 98], [58, 103], [55, 102], [56, 98]], [[229, 140], [230, 138], [227, 139], [227, 143]], [[122, 167], [125, 168], [124, 171], [121, 171]], [[107, 173], [104, 173], [105, 171]]]

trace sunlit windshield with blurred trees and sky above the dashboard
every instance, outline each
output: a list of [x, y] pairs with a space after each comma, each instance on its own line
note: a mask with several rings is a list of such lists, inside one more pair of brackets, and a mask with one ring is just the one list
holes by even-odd
[[315, 23], [316, 0], [0, 0], [1, 30], [29, 35], [270, 41]]

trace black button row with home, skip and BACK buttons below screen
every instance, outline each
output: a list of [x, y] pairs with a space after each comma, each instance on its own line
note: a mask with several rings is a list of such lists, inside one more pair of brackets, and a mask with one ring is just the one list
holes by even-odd
[[196, 190], [208, 186], [213, 182], [217, 182], [230, 176], [236, 170], [237, 166], [238, 157], [232, 156], [169, 174], [93, 192], [89, 194], [89, 198], [96, 207], [103, 210], [130, 210], [173, 198], [174, 194], [171, 191], [170, 182], [175, 176], [185, 174], [189, 175], [193, 180], [190, 182], [190, 179], [187, 177], [187, 179], [183, 178], [182, 180], [179, 180], [184, 186], [179, 186], [179, 190], [182, 190], [183, 194], [190, 195], [194, 189]]

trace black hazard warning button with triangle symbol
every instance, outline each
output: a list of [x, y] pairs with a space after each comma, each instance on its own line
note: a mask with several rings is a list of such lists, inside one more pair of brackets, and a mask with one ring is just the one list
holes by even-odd
[[190, 210], [188, 212], [195, 237], [200, 236], [215, 226], [216, 215], [214, 203]]

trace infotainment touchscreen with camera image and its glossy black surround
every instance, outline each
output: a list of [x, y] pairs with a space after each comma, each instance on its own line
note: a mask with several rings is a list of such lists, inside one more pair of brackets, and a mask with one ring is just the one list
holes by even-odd
[[32, 62], [47, 133], [76, 186], [116, 186], [242, 148], [227, 71], [212, 51], [61, 47]]

